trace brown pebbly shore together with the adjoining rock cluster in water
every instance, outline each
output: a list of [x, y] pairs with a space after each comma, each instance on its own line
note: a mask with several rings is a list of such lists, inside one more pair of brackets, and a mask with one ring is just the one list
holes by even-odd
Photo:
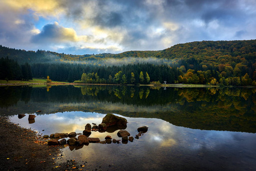
[[[78, 138], [74, 137], [75, 132], [70, 134], [54, 133], [50, 135], [50, 138], [32, 129], [22, 128], [19, 124], [11, 123], [8, 117], [0, 116], [0, 138], [2, 141], [0, 143], [0, 168], [1, 170], [84, 170], [87, 161], [84, 162], [84, 165], [80, 165], [75, 160], [56, 163], [58, 158], [62, 158], [60, 149], [66, 148], [67, 145], [72, 150], [80, 149], [89, 143], [127, 144], [128, 141], [133, 141], [133, 137], [125, 130], [120, 130], [117, 133], [121, 140], [112, 140], [111, 136], [106, 136], [104, 141], [89, 137], [91, 131], [105, 132], [109, 128], [111, 131], [113, 131], [113, 128], [116, 130], [125, 129], [126, 124], [126, 119], [108, 113], [99, 126], [93, 124], [94, 126], [91, 127], [90, 124], [87, 124], [83, 135], [79, 135]], [[135, 136], [135, 139], [139, 139], [143, 133], [147, 132], [148, 127], [139, 127], [137, 131], [139, 133]], [[62, 136], [70, 137], [70, 139], [66, 141], [66, 139], [61, 139]], [[55, 144], [51, 144], [53, 142]]]

